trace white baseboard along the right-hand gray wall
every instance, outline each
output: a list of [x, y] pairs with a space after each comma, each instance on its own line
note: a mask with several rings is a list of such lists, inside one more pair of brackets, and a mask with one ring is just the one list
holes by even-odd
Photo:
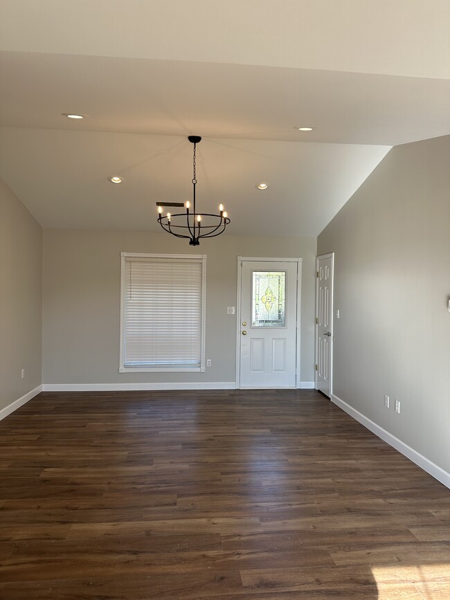
[[335, 394], [332, 394], [331, 399], [332, 402], [339, 406], [339, 408], [342, 408], [342, 410], [347, 412], [350, 417], [353, 417], [353, 419], [361, 423], [361, 425], [366, 427], [372, 433], [375, 433], [375, 435], [381, 437], [381, 439], [384, 439], [384, 442], [387, 442], [390, 446], [393, 446], [395, 450], [398, 450], [399, 453], [402, 453], [409, 460], [412, 460], [415, 464], [417, 464], [417, 466], [420, 466], [421, 469], [426, 471], [426, 473], [429, 473], [429, 475], [450, 489], [450, 473], [447, 473], [447, 471], [441, 469], [440, 466], [434, 462], [431, 462], [431, 460], [415, 451], [414, 448], [411, 448], [411, 446], [408, 446], [408, 444], [402, 442], [401, 439], [398, 439], [398, 437], [395, 437], [395, 435], [392, 435], [392, 433], [389, 433], [386, 431], [386, 429], [380, 427], [374, 421], [368, 419], [368, 417], [365, 417], [361, 412], [359, 412], [359, 410], [352, 408], [350, 404], [344, 402]]

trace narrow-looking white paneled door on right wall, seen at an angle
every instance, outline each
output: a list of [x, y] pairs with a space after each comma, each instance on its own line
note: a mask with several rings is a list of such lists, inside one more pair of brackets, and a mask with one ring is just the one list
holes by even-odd
[[332, 392], [333, 260], [332, 254], [316, 259], [316, 389], [329, 398]]

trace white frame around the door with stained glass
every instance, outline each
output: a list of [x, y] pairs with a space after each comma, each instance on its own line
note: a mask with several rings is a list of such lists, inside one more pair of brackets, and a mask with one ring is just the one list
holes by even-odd
[[242, 298], [242, 262], [296, 262], [297, 263], [297, 311], [296, 311], [296, 389], [301, 387], [300, 382], [300, 318], [302, 300], [302, 264], [303, 258], [281, 258], [264, 256], [238, 256], [237, 257], [237, 298], [236, 298], [236, 388], [240, 389], [241, 365], [241, 298]]

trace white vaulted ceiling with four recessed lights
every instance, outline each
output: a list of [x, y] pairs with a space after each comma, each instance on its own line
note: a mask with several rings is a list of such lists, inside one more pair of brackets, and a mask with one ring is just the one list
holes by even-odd
[[157, 230], [197, 134], [201, 210], [317, 235], [391, 146], [450, 133], [450, 3], [278, 4], [0, 0], [0, 176], [45, 228]]

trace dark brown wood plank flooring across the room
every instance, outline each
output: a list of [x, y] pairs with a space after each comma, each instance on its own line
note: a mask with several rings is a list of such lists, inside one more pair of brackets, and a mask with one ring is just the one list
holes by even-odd
[[43, 393], [0, 476], [4, 600], [450, 599], [450, 491], [312, 390]]

